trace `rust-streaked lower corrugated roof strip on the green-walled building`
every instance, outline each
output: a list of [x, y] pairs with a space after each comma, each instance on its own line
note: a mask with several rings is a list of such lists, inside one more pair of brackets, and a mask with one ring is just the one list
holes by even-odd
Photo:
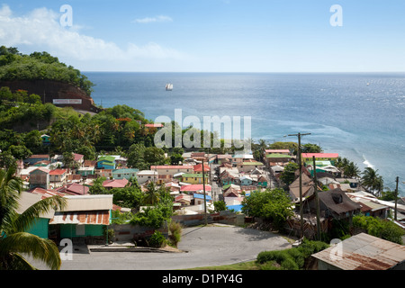
[[55, 212], [49, 224], [110, 224], [110, 211]]

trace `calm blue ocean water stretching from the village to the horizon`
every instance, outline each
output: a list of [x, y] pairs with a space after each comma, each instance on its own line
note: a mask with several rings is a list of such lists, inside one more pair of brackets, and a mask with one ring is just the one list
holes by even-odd
[[[103, 107], [126, 104], [147, 119], [250, 116], [252, 138], [296, 141], [284, 135], [311, 133], [302, 143], [319, 144], [373, 166], [384, 183], [405, 195], [405, 73], [255, 74], [85, 72], [92, 97]], [[166, 83], [173, 83], [171, 92]], [[242, 126], [243, 127], [243, 126]]]

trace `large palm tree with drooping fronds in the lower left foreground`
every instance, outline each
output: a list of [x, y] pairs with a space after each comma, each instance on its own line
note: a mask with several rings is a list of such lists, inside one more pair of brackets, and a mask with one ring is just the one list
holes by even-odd
[[51, 209], [63, 209], [65, 199], [49, 197], [17, 213], [23, 181], [14, 176], [15, 170], [0, 170], [0, 270], [36, 269], [23, 254], [40, 259], [51, 269], [59, 269], [58, 247], [49, 239], [24, 232], [33, 222]]

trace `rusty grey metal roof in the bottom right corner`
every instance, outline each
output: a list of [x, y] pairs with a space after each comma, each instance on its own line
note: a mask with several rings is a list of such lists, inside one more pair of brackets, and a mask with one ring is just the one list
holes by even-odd
[[405, 246], [360, 233], [312, 257], [342, 270], [387, 270], [405, 261]]

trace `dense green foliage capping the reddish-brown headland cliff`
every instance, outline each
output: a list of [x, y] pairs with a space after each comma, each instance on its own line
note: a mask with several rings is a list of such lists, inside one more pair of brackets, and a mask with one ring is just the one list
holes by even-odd
[[1, 80], [54, 80], [76, 85], [86, 94], [93, 91], [93, 83], [79, 70], [59, 62], [48, 52], [23, 55], [16, 48], [0, 47]]

